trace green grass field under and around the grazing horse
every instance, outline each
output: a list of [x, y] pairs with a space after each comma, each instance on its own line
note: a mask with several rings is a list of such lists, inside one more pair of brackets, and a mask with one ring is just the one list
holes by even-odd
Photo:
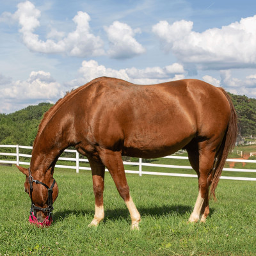
[[94, 196], [89, 171], [56, 170], [60, 194], [49, 228], [29, 225], [29, 196], [17, 168], [0, 167], [0, 255], [256, 255], [255, 182], [220, 180], [206, 223], [188, 223], [197, 179], [127, 174], [141, 213], [131, 220], [106, 173], [105, 220], [89, 228]]

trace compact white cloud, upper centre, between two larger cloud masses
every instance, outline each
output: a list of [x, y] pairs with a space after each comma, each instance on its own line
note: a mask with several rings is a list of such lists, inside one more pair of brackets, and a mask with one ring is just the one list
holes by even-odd
[[104, 27], [108, 34], [110, 47], [108, 54], [111, 58], [131, 58], [138, 54], [143, 54], [145, 48], [134, 38], [140, 29], [132, 29], [129, 25], [115, 21], [109, 27]]

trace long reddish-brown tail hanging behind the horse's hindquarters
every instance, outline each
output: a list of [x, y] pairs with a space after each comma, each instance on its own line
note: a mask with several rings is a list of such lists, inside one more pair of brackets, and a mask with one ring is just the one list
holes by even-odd
[[232, 103], [232, 100], [230, 99], [229, 95], [223, 88], [220, 88], [221, 92], [224, 93], [224, 95], [227, 97], [227, 100], [230, 105], [230, 118], [227, 126], [227, 130], [225, 132], [225, 136], [223, 137], [223, 140], [221, 141], [220, 148], [218, 152], [216, 153], [215, 159], [214, 159], [214, 167], [212, 175], [212, 184], [211, 184], [211, 193], [210, 196], [213, 196], [215, 198], [215, 189], [218, 185], [218, 182], [220, 180], [220, 175], [223, 169], [223, 166], [225, 164], [225, 161], [228, 157], [228, 153], [230, 152], [231, 148], [233, 148], [236, 144], [236, 138], [237, 138], [237, 115], [236, 110], [234, 108], [234, 105]]

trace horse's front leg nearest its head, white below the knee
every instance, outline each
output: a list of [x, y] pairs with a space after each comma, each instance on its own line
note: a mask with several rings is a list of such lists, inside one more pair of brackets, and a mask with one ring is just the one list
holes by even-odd
[[105, 166], [93, 159], [88, 158], [88, 160], [92, 168], [93, 193], [95, 196], [95, 214], [92, 222], [88, 225], [92, 227], [99, 225], [100, 221], [104, 218], [103, 191]]

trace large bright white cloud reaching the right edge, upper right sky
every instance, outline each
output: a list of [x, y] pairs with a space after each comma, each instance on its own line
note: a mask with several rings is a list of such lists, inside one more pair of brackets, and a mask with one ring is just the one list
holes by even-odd
[[[228, 26], [198, 33], [193, 22], [162, 20], [152, 27], [164, 51], [172, 51], [183, 63], [201, 68], [255, 67], [256, 15]], [[199, 66], [198, 66], [199, 67]]]

